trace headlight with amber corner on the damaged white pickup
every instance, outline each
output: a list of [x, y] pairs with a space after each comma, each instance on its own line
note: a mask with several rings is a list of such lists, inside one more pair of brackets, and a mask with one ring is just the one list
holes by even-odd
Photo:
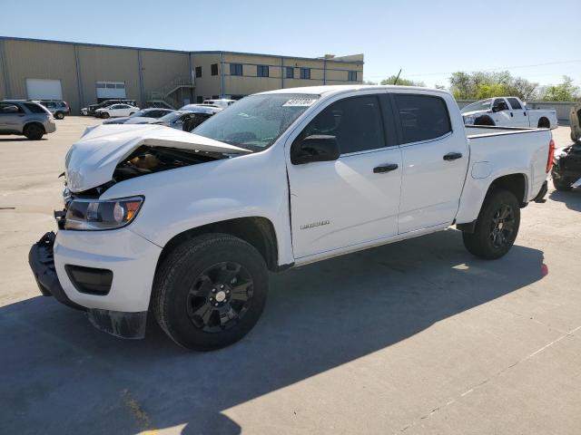
[[64, 218], [64, 229], [102, 230], [129, 225], [142, 207], [143, 197], [74, 199]]

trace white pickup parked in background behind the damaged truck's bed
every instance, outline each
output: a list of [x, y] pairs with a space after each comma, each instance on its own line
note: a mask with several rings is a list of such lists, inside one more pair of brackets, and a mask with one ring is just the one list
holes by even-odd
[[537, 127], [555, 129], [556, 111], [529, 110], [517, 97], [488, 98], [473, 102], [461, 111], [466, 125], [497, 125], [502, 127]]

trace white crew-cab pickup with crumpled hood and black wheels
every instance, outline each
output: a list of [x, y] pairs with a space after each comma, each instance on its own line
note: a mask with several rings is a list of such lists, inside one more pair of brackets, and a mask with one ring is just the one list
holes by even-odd
[[141, 338], [152, 313], [215, 349], [257, 322], [269, 270], [454, 224], [473, 255], [504, 256], [553, 151], [550, 131], [465, 129], [448, 92], [399, 86], [263, 92], [194, 134], [99, 126], [69, 150], [58, 233], [29, 263], [105, 332]]

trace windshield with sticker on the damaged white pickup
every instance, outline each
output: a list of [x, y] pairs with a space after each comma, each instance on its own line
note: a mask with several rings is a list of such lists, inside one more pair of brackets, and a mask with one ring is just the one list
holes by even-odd
[[301, 113], [319, 99], [319, 95], [251, 95], [220, 111], [198, 127], [195, 134], [261, 151], [270, 147]]

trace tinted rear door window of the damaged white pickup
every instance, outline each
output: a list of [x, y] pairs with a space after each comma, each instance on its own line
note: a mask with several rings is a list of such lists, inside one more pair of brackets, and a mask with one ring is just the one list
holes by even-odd
[[436, 139], [452, 131], [446, 102], [431, 95], [394, 94], [402, 143]]

